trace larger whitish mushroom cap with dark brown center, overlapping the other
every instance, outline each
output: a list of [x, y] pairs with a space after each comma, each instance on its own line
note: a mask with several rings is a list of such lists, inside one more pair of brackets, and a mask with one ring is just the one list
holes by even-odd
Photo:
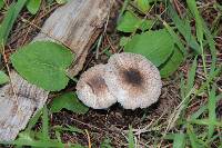
[[105, 67], [105, 83], [125, 109], [147, 108], [161, 95], [158, 68], [141, 55], [115, 53]]

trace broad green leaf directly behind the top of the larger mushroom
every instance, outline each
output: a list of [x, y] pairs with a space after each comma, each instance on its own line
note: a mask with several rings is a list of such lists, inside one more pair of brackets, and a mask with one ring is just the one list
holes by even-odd
[[125, 52], [140, 53], [157, 67], [172, 55], [174, 42], [165, 29], [135, 34], [124, 47]]

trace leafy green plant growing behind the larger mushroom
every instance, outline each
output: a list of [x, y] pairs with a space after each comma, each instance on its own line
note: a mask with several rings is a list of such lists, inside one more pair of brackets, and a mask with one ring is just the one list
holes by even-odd
[[[138, 1], [143, 2], [143, 1]], [[142, 4], [142, 3], [141, 3]], [[145, 7], [147, 4], [143, 3]], [[165, 29], [149, 30], [155, 23], [145, 17], [140, 19], [133, 10], [125, 10], [117, 29], [129, 32], [131, 37], [122, 37], [120, 46], [124, 51], [141, 53], [159, 67], [161, 77], [171, 76], [184, 59], [184, 47], [169, 26]], [[159, 18], [157, 18], [159, 19]], [[137, 33], [141, 30], [141, 33]], [[170, 32], [171, 31], [171, 32]], [[176, 38], [176, 40], [174, 40]], [[180, 50], [179, 50], [180, 49]]]

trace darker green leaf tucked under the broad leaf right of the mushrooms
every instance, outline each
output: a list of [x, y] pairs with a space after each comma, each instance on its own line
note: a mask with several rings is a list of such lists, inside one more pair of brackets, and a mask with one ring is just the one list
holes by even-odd
[[168, 78], [169, 76], [171, 76], [175, 70], [178, 70], [182, 61], [182, 52], [178, 48], [174, 48], [174, 51], [169, 60], [160, 67], [161, 77]]

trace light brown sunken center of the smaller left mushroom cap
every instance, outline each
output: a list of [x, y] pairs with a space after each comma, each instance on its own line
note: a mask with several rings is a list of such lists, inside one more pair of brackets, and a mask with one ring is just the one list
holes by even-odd
[[92, 92], [94, 95], [102, 95], [104, 92], [104, 90], [107, 89], [107, 85], [105, 81], [102, 77], [100, 76], [95, 76], [91, 79], [88, 80], [87, 82], [90, 88], [92, 89]]

